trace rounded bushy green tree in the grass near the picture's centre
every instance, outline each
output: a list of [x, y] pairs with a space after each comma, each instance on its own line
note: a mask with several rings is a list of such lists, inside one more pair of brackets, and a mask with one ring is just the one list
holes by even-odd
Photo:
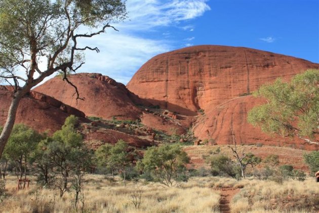
[[149, 172], [155, 182], [171, 187], [174, 181], [187, 181], [186, 164], [189, 157], [178, 145], [150, 147], [138, 164]]

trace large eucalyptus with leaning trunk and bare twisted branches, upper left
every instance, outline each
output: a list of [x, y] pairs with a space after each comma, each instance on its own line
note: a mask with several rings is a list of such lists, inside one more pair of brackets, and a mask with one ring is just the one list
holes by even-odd
[[[12, 86], [13, 100], [0, 135], [0, 157], [12, 131], [21, 98], [54, 73], [67, 79], [83, 65], [79, 39], [105, 32], [126, 18], [125, 0], [0, 1], [0, 83]], [[81, 32], [80, 32], [81, 30]]]

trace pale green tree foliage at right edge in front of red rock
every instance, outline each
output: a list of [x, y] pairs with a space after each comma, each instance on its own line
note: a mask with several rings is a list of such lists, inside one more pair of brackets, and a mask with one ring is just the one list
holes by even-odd
[[308, 69], [290, 83], [277, 79], [271, 85], [260, 87], [254, 95], [267, 99], [267, 103], [254, 107], [248, 114], [248, 121], [261, 126], [266, 133], [313, 138], [318, 134], [318, 83], [319, 70]]

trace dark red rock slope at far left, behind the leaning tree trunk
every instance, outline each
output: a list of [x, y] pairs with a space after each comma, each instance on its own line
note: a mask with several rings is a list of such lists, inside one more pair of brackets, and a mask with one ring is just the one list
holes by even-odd
[[[8, 110], [12, 101], [12, 90], [0, 86], [0, 125], [7, 120]], [[50, 96], [31, 91], [20, 101], [15, 123], [23, 123], [39, 132], [49, 131], [50, 134], [61, 129], [65, 119], [75, 115], [81, 122], [87, 122], [85, 114]]]

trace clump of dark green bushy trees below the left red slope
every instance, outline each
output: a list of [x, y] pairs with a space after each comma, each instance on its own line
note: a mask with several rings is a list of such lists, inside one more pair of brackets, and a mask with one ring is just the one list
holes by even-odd
[[[33, 161], [39, 170], [38, 179], [46, 186], [60, 190], [60, 197], [70, 188], [81, 191], [83, 175], [92, 165], [92, 153], [76, 129], [77, 118], [65, 119], [61, 130], [47, 137], [35, 149]], [[72, 182], [69, 182], [69, 177]]]

